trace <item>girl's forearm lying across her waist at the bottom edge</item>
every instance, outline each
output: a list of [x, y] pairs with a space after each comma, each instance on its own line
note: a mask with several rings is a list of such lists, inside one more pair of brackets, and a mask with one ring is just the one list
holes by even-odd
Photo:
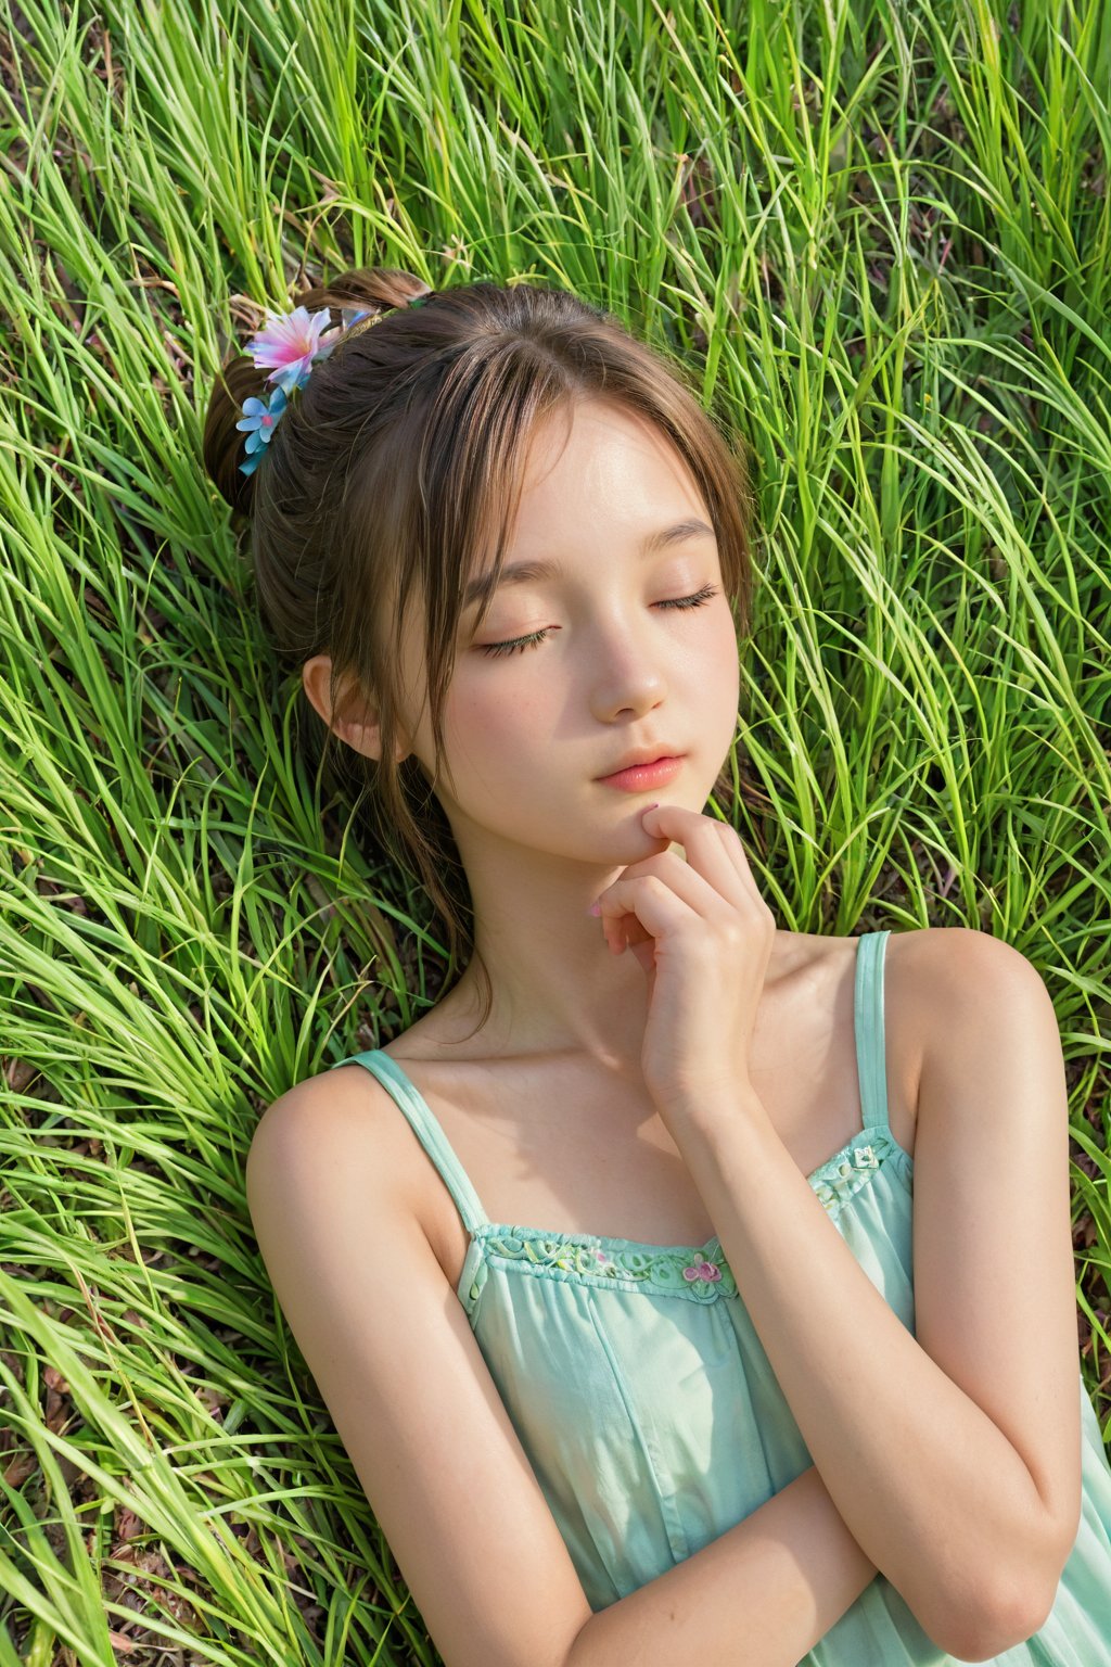
[[796, 1667], [874, 1577], [811, 1465], [693, 1557], [591, 1615], [565, 1667]]

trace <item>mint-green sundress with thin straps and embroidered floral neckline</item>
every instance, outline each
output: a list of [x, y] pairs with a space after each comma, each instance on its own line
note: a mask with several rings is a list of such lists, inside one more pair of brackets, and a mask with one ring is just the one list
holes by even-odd
[[[863, 1127], [806, 1179], [913, 1332], [914, 1162], [888, 1124], [888, 937], [868, 932], [858, 940]], [[338, 1060], [346, 1064], [378, 1077], [463, 1217], [470, 1247], [456, 1295], [593, 1610], [691, 1557], [813, 1464], [720, 1239], [651, 1245], [490, 1222], [443, 1129], [396, 1060], [371, 1049]], [[1111, 1465], [1079, 1362], [1078, 1394], [1083, 1510], [1076, 1542], [1049, 1619], [1024, 1644], [994, 1657], [998, 1667], [1111, 1664]], [[878, 1574], [800, 1667], [943, 1667], [951, 1660]]]

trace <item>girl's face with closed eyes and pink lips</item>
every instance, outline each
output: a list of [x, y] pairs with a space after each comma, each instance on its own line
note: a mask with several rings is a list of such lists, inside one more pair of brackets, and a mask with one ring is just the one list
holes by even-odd
[[[621, 407], [580, 405], [566, 443], [565, 420], [535, 435], [490, 613], [460, 623], [436, 795], [465, 867], [490, 837], [591, 865], [646, 855], [640, 812], [701, 812], [736, 730], [736, 628], [693, 480]], [[411, 618], [401, 675], [420, 698]], [[638, 792], [600, 780], [641, 748], [681, 755], [678, 773]], [[426, 707], [411, 750], [431, 777]]]

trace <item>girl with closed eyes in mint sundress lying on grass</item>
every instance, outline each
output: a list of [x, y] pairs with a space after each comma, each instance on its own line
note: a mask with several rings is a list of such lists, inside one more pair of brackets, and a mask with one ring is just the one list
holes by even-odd
[[247, 1175], [443, 1660], [1111, 1662], [1053, 1005], [978, 932], [776, 930], [705, 813], [751, 567], [683, 377], [560, 290], [360, 270], [205, 445], [470, 952]]

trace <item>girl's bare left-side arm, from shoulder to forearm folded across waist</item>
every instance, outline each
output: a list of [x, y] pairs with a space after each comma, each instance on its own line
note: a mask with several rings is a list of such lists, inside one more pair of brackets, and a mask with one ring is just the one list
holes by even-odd
[[795, 1667], [876, 1574], [818, 1472], [595, 1615], [463, 1307], [391, 1184], [408, 1130], [380, 1084], [343, 1077], [308, 1079], [267, 1110], [250, 1214], [446, 1667]]

